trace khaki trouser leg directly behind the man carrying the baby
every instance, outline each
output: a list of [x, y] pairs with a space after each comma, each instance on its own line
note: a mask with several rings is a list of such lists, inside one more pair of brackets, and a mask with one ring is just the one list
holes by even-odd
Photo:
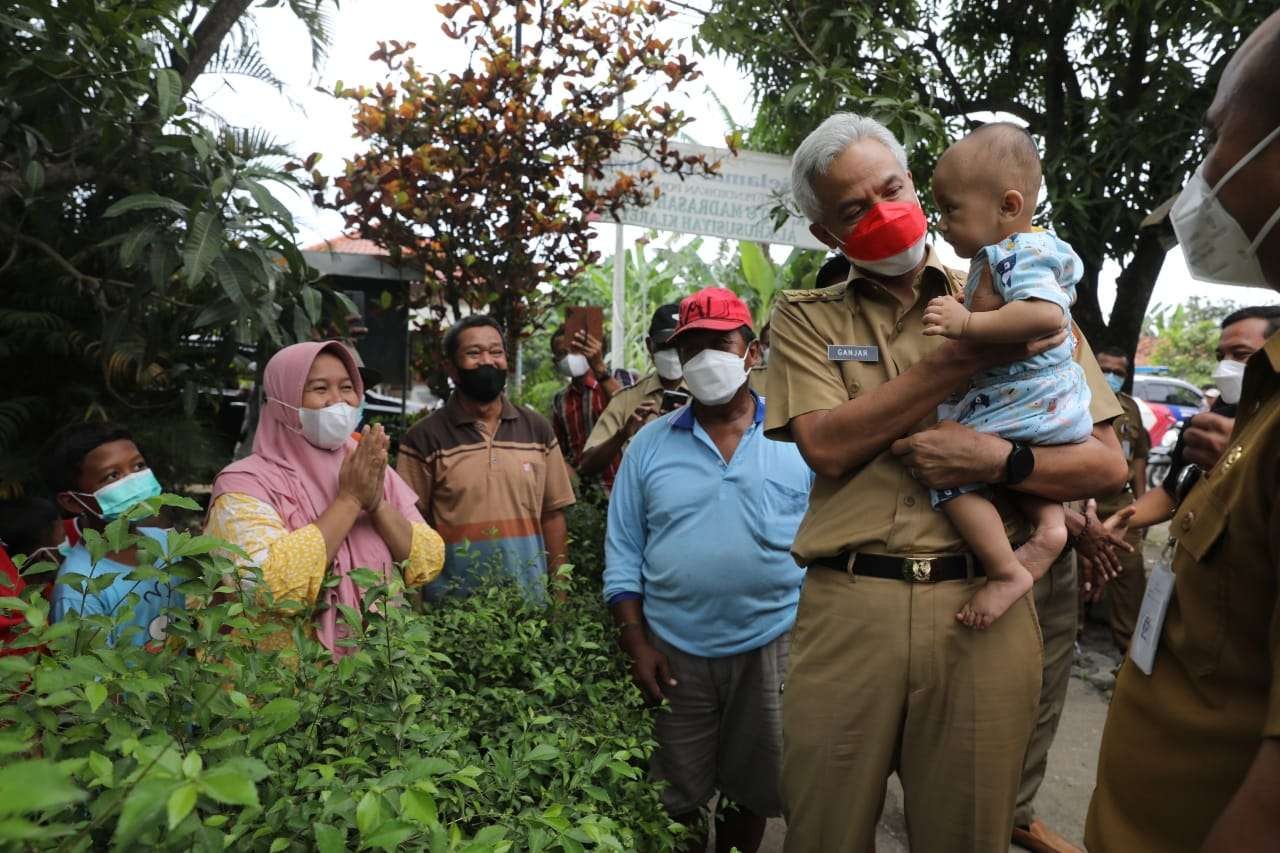
[[1079, 590], [1075, 579], [1075, 552], [1068, 548], [1036, 581], [1032, 589], [1036, 612], [1039, 615], [1041, 634], [1044, 637], [1044, 672], [1041, 680], [1039, 708], [1036, 711], [1036, 730], [1027, 745], [1023, 765], [1023, 783], [1018, 788], [1018, 809], [1014, 824], [1029, 826], [1036, 820], [1033, 800], [1044, 781], [1048, 748], [1057, 734], [1066, 704], [1066, 688], [1071, 680], [1071, 658], [1075, 657], [1075, 626]]

